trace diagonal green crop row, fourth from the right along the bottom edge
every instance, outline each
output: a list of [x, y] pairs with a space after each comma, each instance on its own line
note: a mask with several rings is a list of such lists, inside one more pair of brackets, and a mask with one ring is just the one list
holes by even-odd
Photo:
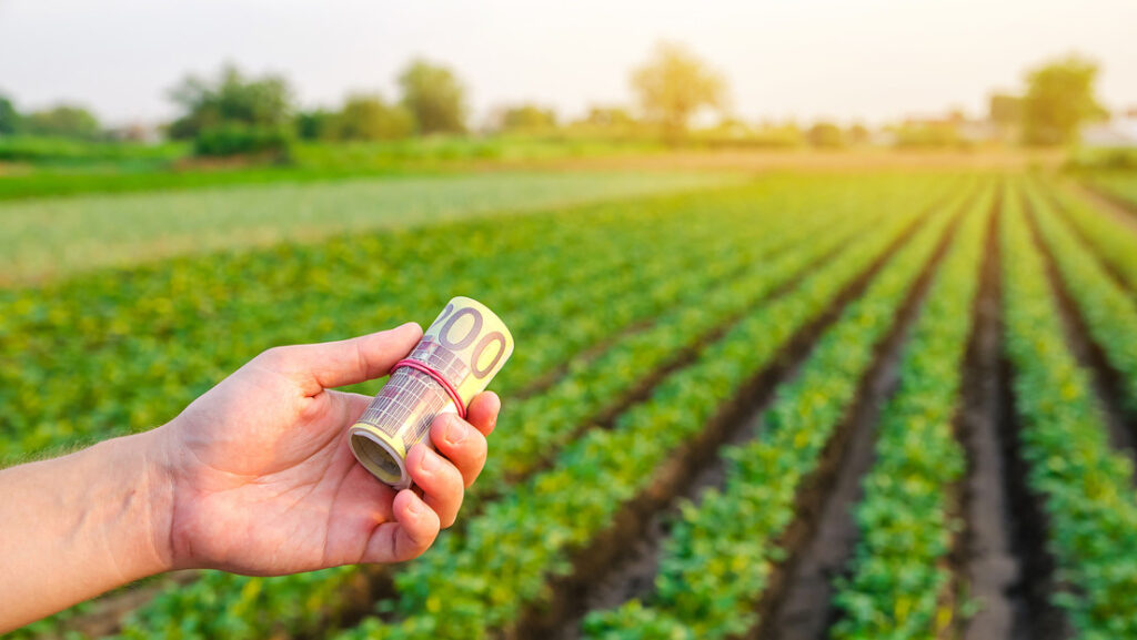
[[614, 429], [589, 431], [553, 469], [489, 505], [460, 539], [447, 538], [396, 577], [400, 598], [393, 614], [401, 621], [388, 625], [371, 618], [345, 638], [473, 640], [515, 623], [525, 607], [548, 597], [548, 579], [571, 572], [573, 550], [650, 487], [677, 447], [697, 435], [915, 217], [911, 206], [891, 213], [877, 233], [706, 346], [691, 366], [669, 375]]

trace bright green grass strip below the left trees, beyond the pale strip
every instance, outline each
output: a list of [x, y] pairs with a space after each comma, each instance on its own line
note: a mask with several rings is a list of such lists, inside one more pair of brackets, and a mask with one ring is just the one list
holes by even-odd
[[454, 174], [473, 167], [661, 150], [648, 141], [431, 136], [391, 142], [296, 142], [287, 164], [194, 160], [183, 142], [141, 144], [0, 138], [0, 200], [201, 189], [362, 176]]

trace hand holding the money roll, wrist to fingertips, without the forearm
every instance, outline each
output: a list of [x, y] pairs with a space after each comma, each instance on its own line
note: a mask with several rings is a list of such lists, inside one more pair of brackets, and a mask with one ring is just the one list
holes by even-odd
[[408, 452], [420, 498], [356, 462], [347, 427], [371, 398], [331, 390], [387, 375], [421, 336], [407, 324], [269, 349], [157, 430], [171, 566], [277, 575], [401, 562], [430, 547], [485, 463], [497, 396], [474, 398], [468, 423], [440, 415], [430, 433], [438, 452]]

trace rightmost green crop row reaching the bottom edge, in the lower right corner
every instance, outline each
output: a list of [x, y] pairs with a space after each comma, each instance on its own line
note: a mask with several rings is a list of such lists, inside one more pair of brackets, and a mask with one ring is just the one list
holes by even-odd
[[1137, 500], [1132, 465], [1111, 451], [1087, 372], [1064, 347], [1043, 257], [1018, 198], [1002, 218], [1006, 355], [1027, 482], [1041, 498], [1053, 596], [1079, 638], [1137, 638]]

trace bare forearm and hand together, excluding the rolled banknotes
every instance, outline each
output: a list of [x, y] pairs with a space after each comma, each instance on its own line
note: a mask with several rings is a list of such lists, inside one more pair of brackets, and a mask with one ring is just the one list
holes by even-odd
[[[352, 457], [371, 398], [332, 390], [387, 375], [422, 336], [407, 324], [269, 349], [169, 423], [0, 472], [0, 633], [180, 568], [281, 575], [425, 551], [485, 463], [500, 401], [431, 426], [395, 491]], [[467, 422], [468, 421], [468, 422]]]

